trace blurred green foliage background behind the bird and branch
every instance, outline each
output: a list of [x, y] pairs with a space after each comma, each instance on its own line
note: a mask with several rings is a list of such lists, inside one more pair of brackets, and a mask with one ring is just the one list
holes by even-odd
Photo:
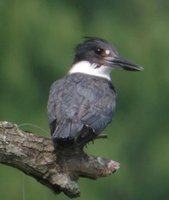
[[[107, 39], [145, 70], [113, 71], [118, 96], [113, 122], [105, 130], [109, 138], [86, 151], [119, 161], [121, 168], [97, 181], [81, 179], [77, 199], [169, 199], [166, 0], [0, 0], [0, 120], [49, 136], [49, 87], [68, 71], [83, 36]], [[68, 198], [0, 164], [0, 199]]]

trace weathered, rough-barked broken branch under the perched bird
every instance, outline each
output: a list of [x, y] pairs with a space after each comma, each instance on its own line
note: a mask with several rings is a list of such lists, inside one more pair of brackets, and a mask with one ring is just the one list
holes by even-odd
[[6, 121], [0, 122], [0, 163], [13, 166], [69, 197], [80, 195], [79, 177], [97, 179], [119, 168], [119, 163], [88, 156], [83, 150], [57, 153], [50, 138], [22, 131]]

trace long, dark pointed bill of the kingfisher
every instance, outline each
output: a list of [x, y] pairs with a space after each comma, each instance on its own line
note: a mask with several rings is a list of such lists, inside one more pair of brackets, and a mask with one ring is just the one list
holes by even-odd
[[109, 57], [108, 59], [106, 59], [106, 61], [111, 63], [111, 66], [114, 68], [120, 67], [128, 71], [142, 71], [144, 69], [143, 67], [136, 65], [121, 57]]

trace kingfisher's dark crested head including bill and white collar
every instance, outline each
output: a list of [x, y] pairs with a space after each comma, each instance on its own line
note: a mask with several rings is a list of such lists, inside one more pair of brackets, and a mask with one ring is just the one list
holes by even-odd
[[82, 73], [108, 77], [112, 69], [142, 71], [143, 67], [120, 57], [117, 50], [106, 40], [86, 37], [83, 43], [77, 45], [70, 72], [81, 70]]

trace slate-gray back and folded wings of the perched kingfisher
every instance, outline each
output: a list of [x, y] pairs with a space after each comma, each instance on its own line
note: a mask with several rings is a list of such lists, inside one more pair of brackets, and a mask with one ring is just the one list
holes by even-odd
[[99, 134], [112, 120], [115, 92], [101, 90], [96, 84], [59, 80], [50, 91], [48, 119], [53, 138], [76, 138], [85, 127]]

